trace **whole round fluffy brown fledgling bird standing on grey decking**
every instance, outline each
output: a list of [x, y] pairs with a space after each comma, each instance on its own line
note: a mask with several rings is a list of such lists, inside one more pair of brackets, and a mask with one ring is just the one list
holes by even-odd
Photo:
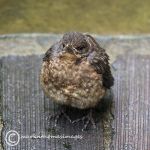
[[[40, 83], [54, 102], [87, 109], [101, 101], [114, 78], [109, 57], [96, 40], [88, 34], [68, 32], [45, 53]], [[59, 115], [62, 113], [69, 119], [62, 111]], [[89, 122], [94, 125], [91, 111], [85, 118], [86, 126]]]

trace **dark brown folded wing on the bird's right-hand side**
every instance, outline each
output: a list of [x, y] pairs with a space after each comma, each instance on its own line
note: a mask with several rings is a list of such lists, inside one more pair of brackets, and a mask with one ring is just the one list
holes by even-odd
[[89, 39], [89, 43], [93, 48], [90, 63], [97, 71], [97, 73], [102, 74], [103, 77], [103, 86], [110, 88], [114, 84], [114, 78], [111, 74], [110, 65], [109, 65], [109, 56], [106, 54], [105, 50], [99, 46], [95, 39], [86, 35]]

